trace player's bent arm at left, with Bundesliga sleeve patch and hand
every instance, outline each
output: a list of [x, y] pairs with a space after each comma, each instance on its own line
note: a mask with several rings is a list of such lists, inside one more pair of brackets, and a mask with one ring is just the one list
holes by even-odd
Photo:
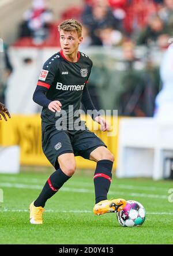
[[56, 73], [55, 65], [47, 65], [47, 62], [44, 64], [43, 69], [40, 73], [39, 80], [37, 82], [37, 87], [33, 93], [33, 101], [39, 104], [40, 106], [48, 107], [52, 112], [61, 110], [61, 102], [51, 101], [46, 97], [46, 92], [51, 87], [51, 84], [54, 81]]

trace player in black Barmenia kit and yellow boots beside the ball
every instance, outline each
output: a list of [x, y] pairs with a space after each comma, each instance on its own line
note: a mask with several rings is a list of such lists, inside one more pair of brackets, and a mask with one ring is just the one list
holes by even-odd
[[74, 113], [82, 102], [86, 110], [93, 110], [92, 118], [101, 125], [101, 129], [108, 129], [106, 120], [93, 106], [88, 92], [92, 61], [78, 51], [82, 43], [82, 25], [77, 20], [65, 20], [58, 30], [62, 49], [45, 62], [33, 94], [33, 101], [43, 106], [42, 147], [55, 172], [29, 206], [31, 224], [43, 223], [43, 207], [47, 199], [73, 176], [76, 155], [97, 162], [93, 212], [97, 215], [118, 212], [126, 205], [125, 199], [107, 199], [114, 155], [82, 121], [78, 122], [80, 129], [76, 128], [79, 117]]

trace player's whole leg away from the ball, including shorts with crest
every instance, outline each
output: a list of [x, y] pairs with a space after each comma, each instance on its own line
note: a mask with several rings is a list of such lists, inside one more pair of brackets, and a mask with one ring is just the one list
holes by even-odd
[[72, 144], [66, 132], [56, 133], [51, 139], [44, 137], [43, 151], [56, 170], [46, 181], [38, 198], [29, 206], [31, 224], [43, 223], [42, 215], [46, 201], [72, 177], [76, 169]]

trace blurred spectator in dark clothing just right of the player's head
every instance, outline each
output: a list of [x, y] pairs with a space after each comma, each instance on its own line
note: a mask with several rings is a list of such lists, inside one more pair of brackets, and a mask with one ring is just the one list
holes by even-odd
[[93, 5], [86, 5], [82, 14], [82, 22], [91, 32], [92, 44], [102, 45], [100, 29], [111, 27], [119, 29], [119, 20], [114, 17], [107, 0], [96, 0]]

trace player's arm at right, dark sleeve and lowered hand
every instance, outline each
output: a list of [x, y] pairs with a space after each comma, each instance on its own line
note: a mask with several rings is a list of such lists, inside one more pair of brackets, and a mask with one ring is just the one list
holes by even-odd
[[85, 85], [85, 87], [84, 87], [81, 102], [84, 105], [86, 110], [92, 110], [92, 113], [93, 113], [92, 114], [92, 119], [94, 121], [96, 121], [98, 124], [101, 125], [101, 130], [103, 132], [108, 131], [109, 124], [103, 117], [100, 116], [100, 113], [97, 112], [95, 106], [93, 105], [93, 102], [92, 102], [91, 96], [89, 94], [87, 85]]

